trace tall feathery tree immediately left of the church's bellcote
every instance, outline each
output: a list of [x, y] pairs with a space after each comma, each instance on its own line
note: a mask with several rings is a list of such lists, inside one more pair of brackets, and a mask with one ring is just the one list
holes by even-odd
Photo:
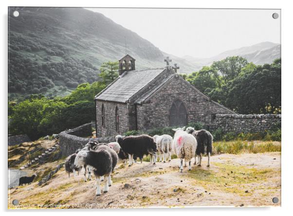
[[101, 73], [99, 77], [103, 79], [103, 82], [107, 85], [113, 82], [118, 76], [118, 62], [106, 62], [100, 67]]

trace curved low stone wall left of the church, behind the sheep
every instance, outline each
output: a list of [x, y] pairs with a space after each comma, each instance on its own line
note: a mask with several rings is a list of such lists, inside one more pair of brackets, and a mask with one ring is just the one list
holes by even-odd
[[82, 149], [89, 141], [97, 141], [98, 143], [109, 143], [114, 141], [114, 137], [103, 138], [86, 138], [81, 136], [92, 135], [92, 124], [84, 124], [77, 128], [63, 131], [59, 133], [59, 148], [61, 156], [73, 154], [77, 149]]

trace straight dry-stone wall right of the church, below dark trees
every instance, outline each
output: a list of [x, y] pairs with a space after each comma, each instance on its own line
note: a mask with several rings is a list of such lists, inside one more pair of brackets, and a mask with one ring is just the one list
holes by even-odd
[[210, 130], [221, 128], [224, 132], [256, 133], [271, 130], [276, 124], [281, 124], [281, 115], [223, 115], [216, 114]]

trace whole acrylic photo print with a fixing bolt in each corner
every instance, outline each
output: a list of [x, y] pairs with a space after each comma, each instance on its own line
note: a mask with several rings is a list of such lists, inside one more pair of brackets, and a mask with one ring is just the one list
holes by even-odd
[[9, 7], [8, 208], [280, 206], [280, 21]]

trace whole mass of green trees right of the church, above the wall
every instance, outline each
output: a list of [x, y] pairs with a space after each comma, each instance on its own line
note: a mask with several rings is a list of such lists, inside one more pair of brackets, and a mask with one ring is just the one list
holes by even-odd
[[227, 57], [193, 72], [186, 81], [237, 113], [281, 113], [281, 59], [256, 66], [243, 57]]

